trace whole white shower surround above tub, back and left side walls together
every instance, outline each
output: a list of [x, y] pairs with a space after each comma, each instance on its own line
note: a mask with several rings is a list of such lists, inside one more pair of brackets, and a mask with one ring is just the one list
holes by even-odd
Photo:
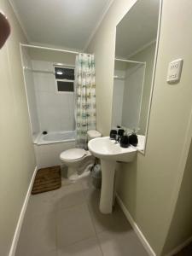
[[75, 55], [22, 47], [22, 59], [34, 139], [42, 131], [73, 131], [74, 94], [56, 90], [54, 67], [56, 63], [74, 67]]

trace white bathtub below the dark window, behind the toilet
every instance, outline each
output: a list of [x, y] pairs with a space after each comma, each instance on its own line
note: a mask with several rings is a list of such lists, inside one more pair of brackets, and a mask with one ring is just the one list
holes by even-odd
[[75, 148], [75, 131], [50, 131], [34, 139], [34, 149], [38, 168], [61, 165], [60, 154]]

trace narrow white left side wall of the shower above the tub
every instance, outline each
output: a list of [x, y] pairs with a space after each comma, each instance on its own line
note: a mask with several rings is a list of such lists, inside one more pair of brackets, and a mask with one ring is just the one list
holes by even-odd
[[38, 121], [38, 108], [37, 100], [35, 94], [34, 79], [32, 73], [32, 61], [30, 55], [28, 54], [28, 49], [22, 47], [22, 61], [24, 68], [25, 84], [26, 84], [26, 96], [27, 103], [30, 114], [30, 121], [32, 127], [32, 136], [36, 136], [40, 131], [39, 121]]

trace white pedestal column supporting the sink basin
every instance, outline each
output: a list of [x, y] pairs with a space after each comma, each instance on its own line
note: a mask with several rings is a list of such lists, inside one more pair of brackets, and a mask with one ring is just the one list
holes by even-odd
[[100, 211], [104, 214], [113, 210], [113, 187], [116, 161], [102, 160], [102, 191], [100, 199]]

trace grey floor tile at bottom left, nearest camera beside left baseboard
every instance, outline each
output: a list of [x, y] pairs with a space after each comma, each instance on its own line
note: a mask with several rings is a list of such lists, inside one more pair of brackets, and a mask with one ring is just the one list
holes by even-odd
[[15, 256], [47, 256], [50, 252], [55, 253], [55, 231], [55, 213], [26, 216]]

